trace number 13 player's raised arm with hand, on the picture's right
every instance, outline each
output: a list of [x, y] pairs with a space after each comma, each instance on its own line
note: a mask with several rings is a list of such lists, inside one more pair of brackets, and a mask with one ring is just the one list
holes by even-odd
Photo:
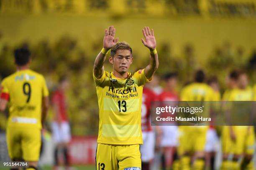
[[144, 73], [148, 79], [154, 75], [159, 65], [158, 55], [156, 52], [156, 39], [154, 36], [154, 30], [151, 29], [151, 31], [149, 27], [144, 27], [142, 32], [145, 40], [143, 40], [143, 38], [141, 39], [142, 43], [150, 50], [149, 64], [146, 66], [144, 70]]

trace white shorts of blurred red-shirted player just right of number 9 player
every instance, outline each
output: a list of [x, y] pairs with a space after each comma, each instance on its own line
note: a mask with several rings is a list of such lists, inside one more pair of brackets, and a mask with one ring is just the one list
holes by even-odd
[[71, 139], [68, 122], [52, 122], [52, 135], [56, 143], [68, 143]]

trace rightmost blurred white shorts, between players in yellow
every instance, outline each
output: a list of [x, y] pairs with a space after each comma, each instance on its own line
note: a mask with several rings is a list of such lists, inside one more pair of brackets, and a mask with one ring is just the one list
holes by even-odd
[[205, 152], [215, 152], [218, 145], [218, 135], [215, 129], [208, 129], [206, 135]]

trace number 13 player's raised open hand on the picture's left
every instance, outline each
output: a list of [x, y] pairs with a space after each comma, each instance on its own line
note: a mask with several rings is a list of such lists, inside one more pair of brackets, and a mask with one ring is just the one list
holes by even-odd
[[114, 26], [108, 27], [108, 29], [105, 29], [105, 36], [103, 39], [103, 47], [106, 50], [109, 50], [112, 48], [118, 41], [118, 38], [115, 38], [115, 28]]

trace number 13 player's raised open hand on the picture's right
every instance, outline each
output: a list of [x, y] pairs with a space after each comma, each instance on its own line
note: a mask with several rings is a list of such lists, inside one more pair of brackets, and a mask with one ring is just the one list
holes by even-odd
[[142, 33], [144, 35], [145, 40], [141, 38], [142, 43], [148, 47], [150, 50], [154, 50], [156, 48], [156, 39], [154, 36], [154, 31], [151, 29], [152, 32], [150, 32], [149, 27], [144, 27], [142, 30]]

